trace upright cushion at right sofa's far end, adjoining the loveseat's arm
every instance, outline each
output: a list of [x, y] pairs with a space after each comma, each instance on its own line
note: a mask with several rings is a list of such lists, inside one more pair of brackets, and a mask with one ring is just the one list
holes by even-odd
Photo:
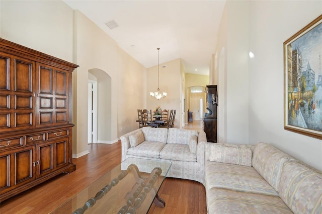
[[210, 150], [210, 161], [252, 166], [253, 151], [248, 147], [237, 147], [223, 144], [207, 144], [206, 149]]

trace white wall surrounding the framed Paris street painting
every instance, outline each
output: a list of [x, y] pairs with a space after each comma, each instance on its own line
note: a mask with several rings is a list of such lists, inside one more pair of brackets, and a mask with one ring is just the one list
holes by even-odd
[[283, 42], [322, 14], [322, 1], [250, 4], [250, 142], [264, 141], [322, 170], [322, 141], [284, 130]]

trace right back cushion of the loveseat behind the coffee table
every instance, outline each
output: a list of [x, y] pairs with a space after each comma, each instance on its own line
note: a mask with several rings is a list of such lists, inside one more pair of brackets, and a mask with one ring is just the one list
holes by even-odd
[[177, 144], [187, 144], [189, 145], [189, 140], [191, 136], [198, 136], [198, 131], [170, 128], [168, 131], [168, 141], [167, 143], [177, 143]]

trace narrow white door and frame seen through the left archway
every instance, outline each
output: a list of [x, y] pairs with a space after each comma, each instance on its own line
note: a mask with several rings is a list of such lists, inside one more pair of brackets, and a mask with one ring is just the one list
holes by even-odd
[[[97, 143], [97, 121], [98, 121], [98, 83], [89, 80], [89, 111], [88, 111], [88, 142]], [[93, 106], [93, 109], [92, 109]], [[91, 142], [92, 141], [92, 142]]]

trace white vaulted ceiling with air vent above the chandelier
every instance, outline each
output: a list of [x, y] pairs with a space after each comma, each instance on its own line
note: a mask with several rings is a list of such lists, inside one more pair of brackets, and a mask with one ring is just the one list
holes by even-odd
[[[181, 58], [187, 73], [209, 75], [225, 1], [64, 1], [144, 67]], [[110, 29], [106, 23], [118, 27]], [[114, 24], [115, 24], [114, 23]]]

